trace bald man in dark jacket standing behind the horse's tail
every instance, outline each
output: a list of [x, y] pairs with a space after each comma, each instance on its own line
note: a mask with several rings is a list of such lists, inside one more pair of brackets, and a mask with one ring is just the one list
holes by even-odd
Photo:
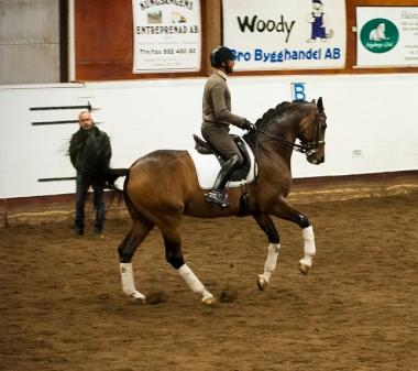
[[85, 204], [91, 186], [96, 208], [95, 234], [102, 237], [106, 215], [102, 171], [109, 168], [112, 155], [110, 140], [106, 132], [95, 126], [89, 111], [79, 113], [78, 123], [79, 130], [72, 137], [68, 151], [77, 171], [75, 234], [84, 234]]

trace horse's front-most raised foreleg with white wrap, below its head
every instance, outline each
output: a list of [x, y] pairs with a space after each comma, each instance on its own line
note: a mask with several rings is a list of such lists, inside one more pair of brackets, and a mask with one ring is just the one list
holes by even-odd
[[304, 237], [304, 258], [299, 260], [299, 270], [301, 273], [308, 274], [317, 252], [312, 225], [305, 215], [295, 209], [285, 198], [282, 198], [280, 203], [277, 204], [274, 209], [274, 215], [282, 219], [293, 221], [301, 228]]

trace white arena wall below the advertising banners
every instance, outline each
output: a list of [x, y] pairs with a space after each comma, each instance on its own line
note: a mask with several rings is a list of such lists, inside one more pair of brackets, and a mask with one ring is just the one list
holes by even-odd
[[[90, 102], [99, 128], [111, 138], [111, 165], [129, 167], [153, 150], [194, 146], [205, 81], [0, 86], [0, 198], [75, 192], [75, 182], [65, 179], [75, 176], [66, 151], [78, 124], [33, 123], [76, 120], [80, 109], [31, 108]], [[294, 83], [305, 84], [307, 100], [322, 97], [328, 116], [326, 162], [310, 165], [295, 152], [294, 177], [418, 170], [418, 74], [231, 77], [232, 110], [255, 121], [292, 100]]]

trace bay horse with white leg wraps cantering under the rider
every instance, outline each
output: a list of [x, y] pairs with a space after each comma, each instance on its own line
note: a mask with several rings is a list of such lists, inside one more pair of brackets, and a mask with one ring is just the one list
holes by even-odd
[[[276, 268], [280, 238], [272, 216], [293, 221], [302, 231], [304, 258], [301, 273], [307, 274], [316, 253], [314, 228], [309, 219], [286, 199], [293, 178], [290, 157], [294, 150], [305, 153], [311, 164], [324, 161], [324, 132], [327, 128], [322, 98], [318, 102], [282, 102], [270, 109], [255, 123], [255, 130], [243, 135], [257, 162], [255, 179], [245, 186], [245, 215], [252, 216], [268, 240], [264, 272], [258, 274], [258, 290], [264, 291]], [[296, 140], [300, 143], [296, 143]], [[230, 207], [220, 209], [208, 204], [200, 188], [194, 162], [187, 151], [158, 150], [139, 159], [129, 171], [123, 195], [132, 218], [132, 227], [120, 243], [120, 274], [122, 290], [135, 301], [146, 297], [135, 287], [132, 259], [138, 247], [156, 226], [165, 245], [167, 262], [179, 273], [204, 304], [216, 303], [182, 253], [179, 226], [184, 215], [196, 218], [242, 216], [240, 187], [229, 188]]]

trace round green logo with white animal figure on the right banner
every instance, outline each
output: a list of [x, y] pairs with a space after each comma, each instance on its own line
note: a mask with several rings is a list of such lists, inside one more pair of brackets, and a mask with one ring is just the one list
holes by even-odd
[[399, 31], [389, 20], [376, 18], [364, 24], [360, 40], [369, 52], [386, 53], [397, 44]]

